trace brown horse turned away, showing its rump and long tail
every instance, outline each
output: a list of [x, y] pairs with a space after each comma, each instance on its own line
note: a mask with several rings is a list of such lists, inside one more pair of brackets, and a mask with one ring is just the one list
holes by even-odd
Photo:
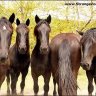
[[60, 33], [50, 42], [53, 95], [57, 94], [56, 83], [60, 96], [77, 94], [77, 76], [81, 61], [80, 39], [78, 34]]

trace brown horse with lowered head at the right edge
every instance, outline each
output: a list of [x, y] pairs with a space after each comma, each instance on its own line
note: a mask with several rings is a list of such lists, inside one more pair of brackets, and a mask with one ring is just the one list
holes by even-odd
[[86, 32], [79, 32], [82, 35], [81, 43], [81, 66], [86, 70], [88, 79], [88, 94], [92, 95], [94, 90], [93, 80], [96, 84], [96, 28]]

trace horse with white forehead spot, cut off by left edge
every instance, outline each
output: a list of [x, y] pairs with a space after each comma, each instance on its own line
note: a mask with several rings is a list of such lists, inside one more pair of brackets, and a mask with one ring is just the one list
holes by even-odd
[[13, 33], [12, 23], [14, 22], [14, 19], [14, 13], [9, 17], [9, 20], [5, 17], [0, 19], [0, 88], [10, 66], [8, 55]]

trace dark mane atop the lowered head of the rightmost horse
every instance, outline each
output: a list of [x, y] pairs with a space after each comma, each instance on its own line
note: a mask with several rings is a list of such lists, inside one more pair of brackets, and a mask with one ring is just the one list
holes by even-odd
[[93, 38], [96, 40], [96, 28], [87, 30], [81, 39], [81, 43], [86, 42], [86, 40], [92, 40]]

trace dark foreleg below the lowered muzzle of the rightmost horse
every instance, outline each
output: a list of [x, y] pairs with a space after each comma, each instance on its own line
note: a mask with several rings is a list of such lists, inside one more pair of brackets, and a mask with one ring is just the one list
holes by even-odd
[[89, 95], [92, 95], [92, 92], [94, 90], [92, 72], [91, 71], [86, 71], [86, 75], [87, 75], [87, 78], [88, 78], [88, 93], [89, 93]]

